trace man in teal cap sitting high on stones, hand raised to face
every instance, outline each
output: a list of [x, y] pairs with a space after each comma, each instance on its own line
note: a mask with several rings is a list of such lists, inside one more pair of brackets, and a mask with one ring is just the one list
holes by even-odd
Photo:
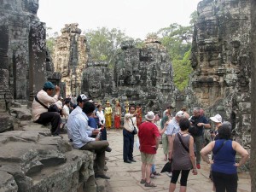
[[[55, 96], [51, 96], [55, 90]], [[45, 82], [43, 90], [40, 90], [37, 94], [39, 102], [42, 102], [44, 106], [49, 107], [49, 105], [58, 101], [60, 96], [60, 87], [55, 86], [51, 82]], [[58, 112], [48, 112], [42, 104], [36, 101], [34, 98], [32, 102], [32, 119], [34, 122], [42, 125], [51, 123], [51, 134], [53, 136], [58, 136], [60, 133], [61, 115]]]

